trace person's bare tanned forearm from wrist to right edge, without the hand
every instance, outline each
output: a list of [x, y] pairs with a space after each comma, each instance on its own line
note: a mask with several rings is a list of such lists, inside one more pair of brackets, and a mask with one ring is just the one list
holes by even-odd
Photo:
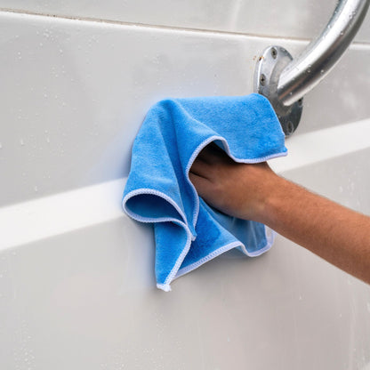
[[259, 221], [370, 284], [370, 218], [275, 176]]

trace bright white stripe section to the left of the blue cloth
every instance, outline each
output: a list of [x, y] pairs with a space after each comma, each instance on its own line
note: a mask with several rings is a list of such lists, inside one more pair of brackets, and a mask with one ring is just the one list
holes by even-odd
[[0, 251], [121, 218], [124, 188], [120, 179], [0, 207]]

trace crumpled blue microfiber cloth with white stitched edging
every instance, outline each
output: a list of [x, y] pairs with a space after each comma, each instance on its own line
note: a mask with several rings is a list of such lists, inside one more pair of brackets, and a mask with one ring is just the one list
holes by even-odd
[[269, 101], [259, 94], [159, 101], [133, 143], [123, 207], [133, 219], [153, 222], [157, 287], [237, 247], [266, 252], [274, 233], [206, 205], [189, 181], [198, 153], [214, 142], [236, 162], [286, 156], [285, 136]]

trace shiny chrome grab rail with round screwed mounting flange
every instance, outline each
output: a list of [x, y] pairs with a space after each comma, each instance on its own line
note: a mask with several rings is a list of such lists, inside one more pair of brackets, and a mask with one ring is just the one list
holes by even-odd
[[280, 46], [259, 58], [254, 91], [265, 95], [286, 135], [294, 133], [302, 114], [302, 97], [334, 68], [365, 19], [370, 0], [340, 0], [320, 36], [295, 59]]

